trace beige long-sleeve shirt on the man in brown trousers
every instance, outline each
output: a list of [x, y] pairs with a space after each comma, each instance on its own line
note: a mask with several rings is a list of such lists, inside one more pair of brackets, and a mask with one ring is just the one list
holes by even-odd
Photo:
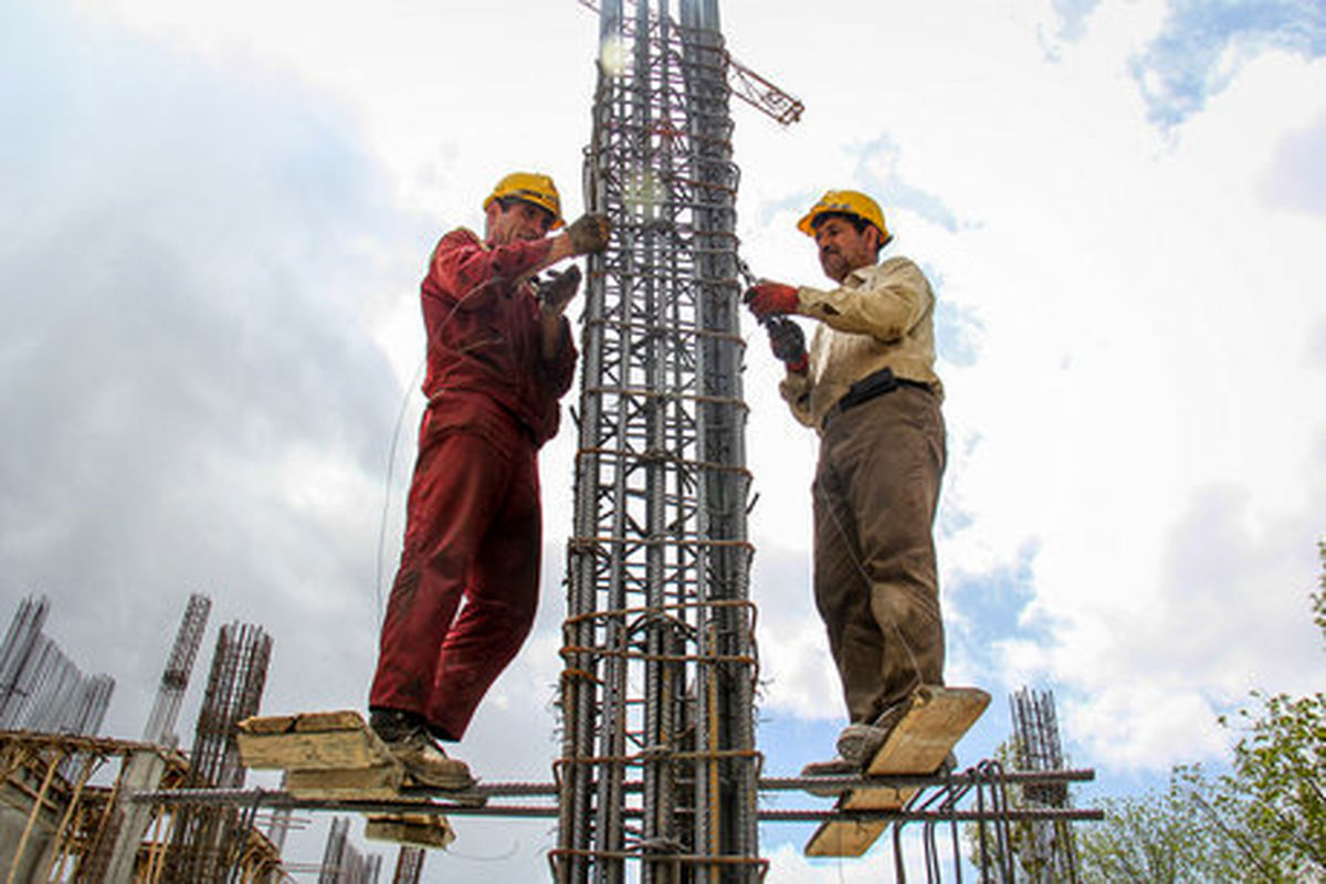
[[857, 380], [891, 368], [931, 384], [935, 374], [935, 294], [920, 268], [904, 257], [859, 268], [831, 292], [801, 288], [800, 311], [819, 321], [806, 374], [788, 372], [778, 390], [793, 416], [822, 429], [825, 415]]

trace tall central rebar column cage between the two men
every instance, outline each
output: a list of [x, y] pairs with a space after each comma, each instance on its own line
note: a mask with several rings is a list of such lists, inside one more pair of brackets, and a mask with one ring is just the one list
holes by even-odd
[[[751, 881], [754, 612], [737, 168], [716, 0], [599, 11], [558, 881]], [[633, 779], [639, 789], [627, 789]]]

